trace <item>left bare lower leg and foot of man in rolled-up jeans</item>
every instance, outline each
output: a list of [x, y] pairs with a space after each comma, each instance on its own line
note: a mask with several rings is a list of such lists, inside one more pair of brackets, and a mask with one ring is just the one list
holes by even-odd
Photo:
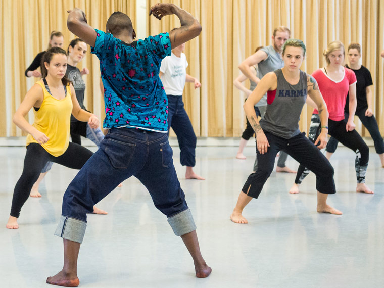
[[52, 285], [77, 287], [80, 283], [77, 277], [77, 258], [79, 256], [80, 243], [64, 239], [64, 267], [55, 276], [46, 278], [46, 282]]

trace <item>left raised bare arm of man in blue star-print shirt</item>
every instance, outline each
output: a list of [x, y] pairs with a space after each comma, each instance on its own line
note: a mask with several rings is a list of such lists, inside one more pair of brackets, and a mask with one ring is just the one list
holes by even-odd
[[94, 47], [96, 31], [88, 25], [85, 13], [78, 8], [68, 11], [67, 27], [69, 31], [81, 38], [85, 43]]

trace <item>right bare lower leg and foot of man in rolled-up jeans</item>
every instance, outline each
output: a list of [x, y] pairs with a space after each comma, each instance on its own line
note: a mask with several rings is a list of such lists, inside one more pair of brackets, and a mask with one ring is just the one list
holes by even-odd
[[208, 277], [209, 274], [211, 274], [212, 269], [205, 263], [205, 260], [201, 255], [199, 240], [198, 240], [198, 235], [196, 234], [196, 230], [186, 233], [184, 235], [181, 235], [181, 239], [183, 240], [186, 248], [188, 249], [190, 256], [192, 256], [192, 258], [194, 259], [196, 277], [198, 278]]

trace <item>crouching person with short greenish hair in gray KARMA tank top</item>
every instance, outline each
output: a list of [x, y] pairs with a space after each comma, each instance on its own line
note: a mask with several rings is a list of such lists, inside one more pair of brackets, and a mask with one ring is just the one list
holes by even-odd
[[[300, 70], [305, 57], [304, 43], [297, 39], [287, 40], [282, 56], [284, 67], [267, 73], [244, 104], [247, 118], [256, 133], [259, 165], [244, 184], [230, 216], [235, 223], [248, 223], [242, 215], [243, 209], [252, 198], [259, 197], [280, 150], [299, 163], [306, 163], [306, 167], [316, 174], [317, 212], [343, 214], [326, 202], [328, 194], [336, 193], [333, 167], [319, 150], [326, 146], [328, 140], [328, 113], [316, 80]], [[266, 92], [267, 110], [259, 123], [253, 106]], [[322, 124], [321, 133], [314, 144], [299, 130], [299, 118], [307, 95], [317, 105]]]

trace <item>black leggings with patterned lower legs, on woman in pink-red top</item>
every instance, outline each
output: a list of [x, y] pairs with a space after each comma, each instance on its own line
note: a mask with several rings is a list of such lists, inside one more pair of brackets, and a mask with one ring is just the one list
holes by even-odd
[[[356, 130], [346, 131], [346, 120], [342, 121], [333, 121], [328, 119], [328, 133], [338, 141], [340, 141], [344, 146], [352, 149], [356, 153], [355, 159], [355, 171], [357, 183], [365, 182], [365, 173], [368, 168], [368, 160], [369, 160], [369, 148], [361, 138], [359, 133]], [[320, 134], [319, 127], [320, 117], [318, 114], [312, 114], [311, 125], [309, 127], [309, 139], [314, 143], [317, 137]], [[299, 169], [296, 174], [295, 183], [301, 184], [304, 178], [309, 174], [309, 169], [305, 166], [299, 166]]]

